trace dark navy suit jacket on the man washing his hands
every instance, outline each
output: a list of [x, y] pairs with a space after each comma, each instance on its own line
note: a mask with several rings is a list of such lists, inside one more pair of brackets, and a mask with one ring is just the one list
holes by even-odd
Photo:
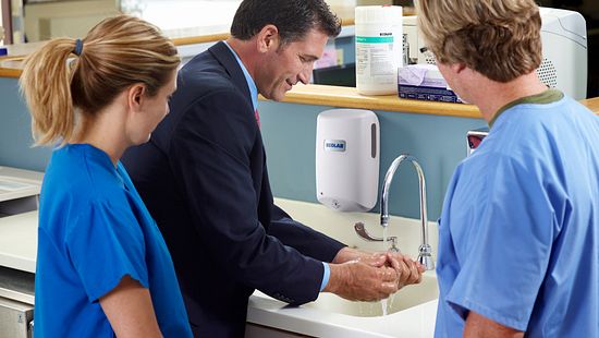
[[302, 304], [318, 297], [340, 242], [272, 202], [243, 72], [219, 43], [179, 74], [171, 111], [123, 162], [162, 231], [192, 328], [243, 337], [255, 289]]

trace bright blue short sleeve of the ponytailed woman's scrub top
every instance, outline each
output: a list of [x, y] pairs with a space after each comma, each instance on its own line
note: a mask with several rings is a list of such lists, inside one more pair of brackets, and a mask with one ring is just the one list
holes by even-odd
[[148, 288], [144, 234], [126, 206], [90, 203], [70, 227], [66, 246], [90, 302], [126, 275]]

